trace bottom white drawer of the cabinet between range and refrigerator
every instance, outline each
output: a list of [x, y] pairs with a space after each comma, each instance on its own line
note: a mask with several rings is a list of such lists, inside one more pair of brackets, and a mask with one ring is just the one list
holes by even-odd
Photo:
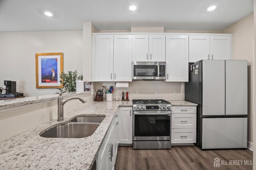
[[172, 143], [196, 143], [196, 128], [172, 129]]

